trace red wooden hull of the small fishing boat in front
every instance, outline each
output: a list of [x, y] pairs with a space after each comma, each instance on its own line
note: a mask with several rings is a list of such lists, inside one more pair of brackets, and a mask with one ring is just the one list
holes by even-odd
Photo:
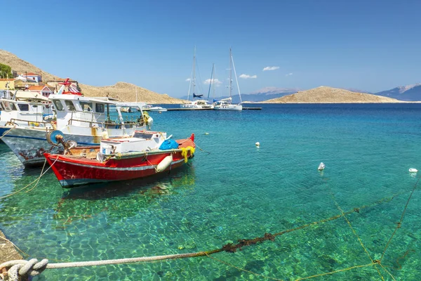
[[[77, 157], [76, 155], [45, 153], [44, 156], [62, 187], [73, 188], [76, 185], [88, 183], [143, 178], [159, 173], [163, 174], [170, 169], [178, 168], [186, 163], [186, 159], [191, 159], [194, 156], [195, 147], [194, 142], [189, 138], [180, 140], [178, 143], [182, 143], [179, 149], [128, 152], [114, 155], [103, 162], [86, 157]], [[186, 157], [182, 155], [183, 148]], [[91, 153], [95, 155], [96, 151]], [[163, 171], [156, 171], [156, 166], [169, 155], [173, 156], [171, 164]]]

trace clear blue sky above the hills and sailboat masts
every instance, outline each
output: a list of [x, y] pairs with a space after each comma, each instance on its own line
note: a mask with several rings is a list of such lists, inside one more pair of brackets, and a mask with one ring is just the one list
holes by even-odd
[[1, 8], [11, 11], [2, 17], [10, 21], [1, 49], [83, 84], [126, 81], [185, 96], [194, 46], [202, 85], [212, 63], [226, 81], [232, 46], [237, 76], [256, 77], [239, 78], [241, 93], [321, 85], [377, 92], [421, 82], [421, 1], [2, 1]]

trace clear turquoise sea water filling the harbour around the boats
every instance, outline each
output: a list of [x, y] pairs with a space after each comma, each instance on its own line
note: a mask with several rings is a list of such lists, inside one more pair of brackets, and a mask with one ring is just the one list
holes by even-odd
[[[344, 211], [368, 205], [347, 218], [371, 259], [380, 259], [417, 181], [408, 169], [421, 170], [421, 105], [260, 106], [151, 112], [155, 130], [174, 138], [194, 132], [210, 154], [196, 149], [188, 166], [163, 178], [71, 191], [48, 172], [33, 190], [0, 200], [0, 229], [29, 256], [51, 263], [122, 259], [207, 251], [279, 233], [340, 214], [336, 202]], [[41, 169], [23, 169], [6, 145], [0, 153], [0, 197], [39, 176]], [[321, 173], [320, 162], [326, 164]], [[420, 280], [420, 188], [382, 259], [396, 280]], [[366, 265], [366, 251], [338, 218], [212, 256], [225, 263], [199, 257], [49, 269], [35, 279], [264, 279], [248, 270], [297, 280]], [[392, 280], [377, 268], [380, 273], [368, 266], [314, 280]]]

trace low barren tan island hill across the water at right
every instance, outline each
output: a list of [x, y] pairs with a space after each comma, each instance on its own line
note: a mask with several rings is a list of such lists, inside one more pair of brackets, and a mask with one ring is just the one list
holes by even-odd
[[261, 103], [402, 103], [401, 100], [320, 86]]

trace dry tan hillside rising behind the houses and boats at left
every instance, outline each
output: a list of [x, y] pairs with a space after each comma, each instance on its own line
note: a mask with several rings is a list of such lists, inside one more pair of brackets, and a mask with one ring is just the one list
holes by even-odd
[[[12, 70], [18, 73], [35, 72], [42, 74], [43, 81], [60, 79], [59, 77], [44, 72], [38, 67], [27, 63], [25, 60], [21, 60], [13, 53], [8, 51], [0, 50], [0, 63], [9, 65]], [[66, 78], [66, 77], [65, 77]], [[61, 78], [62, 79], [62, 78]], [[82, 89], [84, 96], [109, 96], [110, 98], [118, 98], [123, 101], [135, 101], [136, 100], [136, 89], [138, 91], [138, 101], [145, 103], [182, 103], [184, 100], [178, 98], [171, 98], [166, 94], [155, 93], [148, 89], [129, 84], [125, 82], [117, 82], [112, 86], [90, 86], [85, 84], [79, 84]]]

